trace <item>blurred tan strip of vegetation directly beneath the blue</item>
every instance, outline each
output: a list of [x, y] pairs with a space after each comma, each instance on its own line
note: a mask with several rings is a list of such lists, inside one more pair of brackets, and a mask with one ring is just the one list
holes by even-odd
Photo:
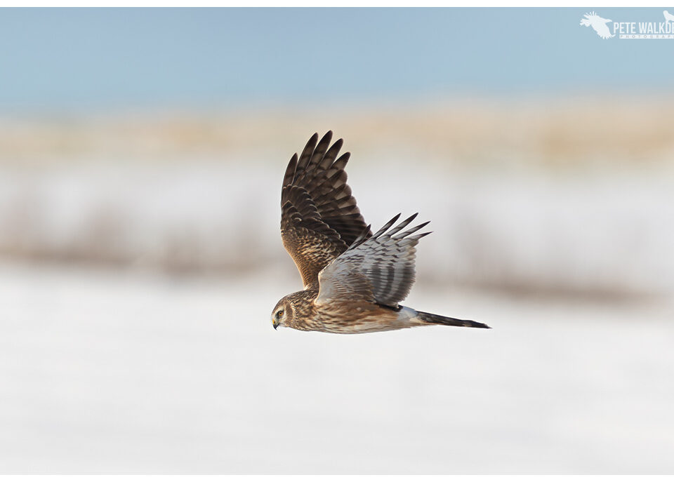
[[[253, 112], [164, 112], [59, 119], [0, 118], [0, 163], [123, 162], [213, 152], [296, 149], [307, 126], [348, 134], [350, 149], [426, 147], [455, 162], [578, 166], [667, 161], [674, 156], [674, 98], [462, 100], [414, 105], [278, 107]], [[494, 155], [498, 153], [499, 155]]]

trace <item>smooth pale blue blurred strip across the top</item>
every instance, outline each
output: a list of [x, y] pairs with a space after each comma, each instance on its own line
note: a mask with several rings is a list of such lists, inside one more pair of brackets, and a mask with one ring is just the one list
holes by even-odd
[[[0, 9], [0, 115], [670, 91], [662, 8]], [[670, 8], [674, 11], [674, 7]]]

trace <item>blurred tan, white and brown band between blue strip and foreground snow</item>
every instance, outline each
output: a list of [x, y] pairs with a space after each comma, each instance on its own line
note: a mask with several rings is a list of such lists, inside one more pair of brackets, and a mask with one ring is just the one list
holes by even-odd
[[279, 175], [313, 131], [333, 129], [357, 156], [350, 182], [370, 222], [412, 208], [440, 230], [418, 257], [427, 281], [670, 292], [673, 107], [472, 99], [0, 119], [0, 257], [291, 279]]

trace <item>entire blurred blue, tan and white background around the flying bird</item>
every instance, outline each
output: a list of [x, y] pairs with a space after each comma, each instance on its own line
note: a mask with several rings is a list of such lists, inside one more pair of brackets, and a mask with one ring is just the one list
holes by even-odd
[[[589, 10], [3, 8], [0, 471], [674, 471], [674, 40]], [[272, 330], [329, 129], [493, 330]]]

